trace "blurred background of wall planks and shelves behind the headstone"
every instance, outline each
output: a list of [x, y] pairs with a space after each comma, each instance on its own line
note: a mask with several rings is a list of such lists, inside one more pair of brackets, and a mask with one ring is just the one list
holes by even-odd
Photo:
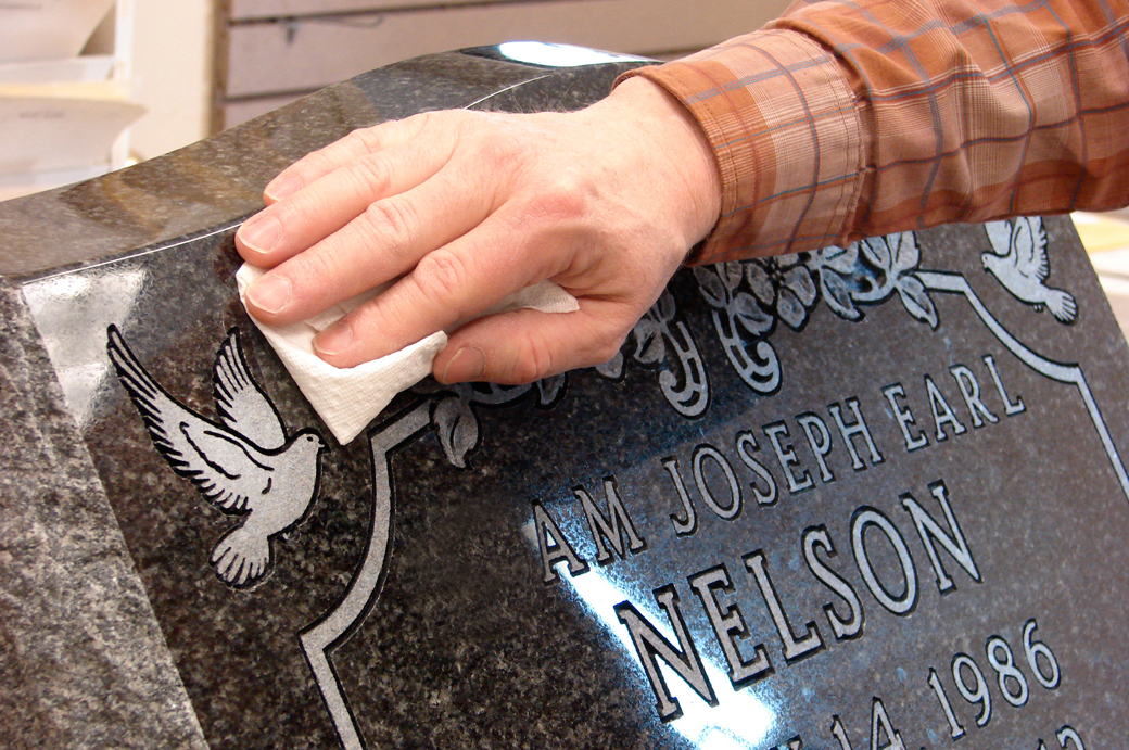
[[[0, 200], [187, 146], [380, 66], [531, 40], [672, 59], [789, 0], [0, 2]], [[1076, 215], [1129, 330], [1129, 213]]]

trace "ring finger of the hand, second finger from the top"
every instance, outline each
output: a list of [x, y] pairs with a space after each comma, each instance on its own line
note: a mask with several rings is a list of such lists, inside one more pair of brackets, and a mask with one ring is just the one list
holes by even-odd
[[247, 219], [236, 233], [236, 247], [253, 265], [278, 265], [338, 232], [371, 203], [423, 183], [448, 157], [449, 151], [404, 145], [361, 155]]

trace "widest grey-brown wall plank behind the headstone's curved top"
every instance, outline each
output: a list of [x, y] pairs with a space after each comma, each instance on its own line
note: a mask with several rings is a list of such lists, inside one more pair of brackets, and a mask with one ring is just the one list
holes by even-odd
[[700, 49], [754, 29], [785, 0], [496, 2], [230, 29], [227, 96], [308, 90], [420, 54], [513, 40], [636, 54]]

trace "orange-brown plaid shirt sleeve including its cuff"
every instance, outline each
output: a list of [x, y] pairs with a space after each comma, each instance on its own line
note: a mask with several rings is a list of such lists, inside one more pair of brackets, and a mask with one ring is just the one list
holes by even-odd
[[1129, 204], [1127, 0], [800, 0], [636, 75], [707, 133], [717, 262]]

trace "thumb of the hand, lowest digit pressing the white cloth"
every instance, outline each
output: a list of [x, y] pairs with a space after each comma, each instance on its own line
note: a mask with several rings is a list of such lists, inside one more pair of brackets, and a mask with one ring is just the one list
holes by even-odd
[[627, 305], [583, 299], [575, 313], [513, 311], [474, 321], [452, 334], [434, 363], [440, 383], [532, 383], [611, 359], [637, 315]]

